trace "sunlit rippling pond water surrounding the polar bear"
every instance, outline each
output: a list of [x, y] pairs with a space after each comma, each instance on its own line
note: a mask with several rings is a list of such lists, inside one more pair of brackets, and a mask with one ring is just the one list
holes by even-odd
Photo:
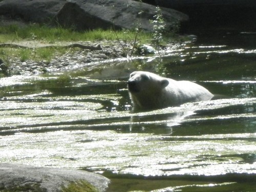
[[[255, 191], [255, 37], [2, 78], [0, 162], [89, 170], [111, 179], [108, 191]], [[131, 113], [134, 70], [195, 81], [215, 98]]]

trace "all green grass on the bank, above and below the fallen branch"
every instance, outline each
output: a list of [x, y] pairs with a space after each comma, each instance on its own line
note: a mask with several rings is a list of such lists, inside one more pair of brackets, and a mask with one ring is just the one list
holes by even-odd
[[[32, 41], [43, 44], [54, 44], [57, 42], [72, 42], [72, 41], [99, 41], [99, 40], [117, 40], [116, 35], [123, 41], [133, 41], [135, 38], [134, 31], [116, 31], [112, 30], [90, 30], [78, 32], [72, 29], [64, 29], [61, 27], [48, 27], [46, 25], [28, 25], [19, 27], [17, 25], [0, 26], [0, 44], [7, 42]], [[138, 41], [142, 44], [150, 41], [151, 34], [140, 32]], [[0, 58], [8, 60], [10, 57], [17, 57], [20, 61], [28, 59], [47, 60], [50, 61], [54, 56], [60, 56], [67, 52], [72, 53], [78, 48], [0, 48]]]

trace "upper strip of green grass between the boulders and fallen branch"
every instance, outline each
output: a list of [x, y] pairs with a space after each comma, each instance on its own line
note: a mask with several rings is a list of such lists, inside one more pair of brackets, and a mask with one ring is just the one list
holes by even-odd
[[[122, 40], [133, 40], [133, 31], [116, 31], [118, 37]], [[141, 32], [139, 40], [142, 42], [151, 39], [150, 33]], [[41, 25], [28, 25], [27, 27], [18, 27], [16, 25], [0, 26], [0, 43], [20, 40], [40, 40], [44, 42], [59, 41], [95, 41], [95, 40], [116, 40], [112, 30], [95, 29], [78, 32], [72, 29], [61, 27], [47, 27]]]

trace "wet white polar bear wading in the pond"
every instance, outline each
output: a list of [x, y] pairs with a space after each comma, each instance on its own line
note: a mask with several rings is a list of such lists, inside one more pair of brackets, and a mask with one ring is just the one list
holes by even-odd
[[176, 81], [145, 71], [131, 73], [127, 87], [135, 111], [210, 100], [214, 96], [194, 82]]

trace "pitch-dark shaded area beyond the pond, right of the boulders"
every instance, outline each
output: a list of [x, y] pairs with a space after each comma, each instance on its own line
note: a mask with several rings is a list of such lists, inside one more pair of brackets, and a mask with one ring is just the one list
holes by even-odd
[[205, 33], [255, 32], [254, 0], [189, 1], [156, 0], [158, 6], [185, 13], [189, 20], [181, 24], [183, 33], [202, 36]]

